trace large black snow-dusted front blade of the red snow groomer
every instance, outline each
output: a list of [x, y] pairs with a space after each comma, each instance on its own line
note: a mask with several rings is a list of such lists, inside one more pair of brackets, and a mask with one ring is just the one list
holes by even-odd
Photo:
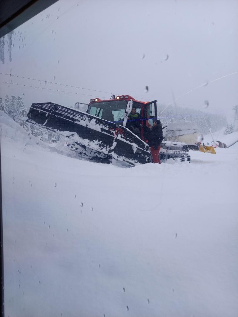
[[100, 157], [131, 166], [152, 160], [149, 146], [129, 129], [89, 113], [47, 102], [32, 104], [27, 116], [26, 122], [67, 137]]

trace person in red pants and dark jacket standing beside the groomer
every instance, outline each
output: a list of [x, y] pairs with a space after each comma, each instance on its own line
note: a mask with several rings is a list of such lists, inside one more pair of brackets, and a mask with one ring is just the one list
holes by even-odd
[[145, 138], [148, 139], [148, 145], [150, 146], [150, 152], [152, 154], [153, 163], [159, 163], [160, 157], [160, 144], [163, 141], [163, 131], [162, 124], [160, 120], [153, 120], [153, 127], [150, 129], [150, 126], [145, 130]]

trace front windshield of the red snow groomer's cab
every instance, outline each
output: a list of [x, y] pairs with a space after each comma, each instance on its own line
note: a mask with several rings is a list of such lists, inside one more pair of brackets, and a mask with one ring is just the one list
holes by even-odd
[[104, 120], [118, 122], [122, 121], [126, 106], [127, 102], [124, 100], [99, 102], [89, 106], [88, 113]]

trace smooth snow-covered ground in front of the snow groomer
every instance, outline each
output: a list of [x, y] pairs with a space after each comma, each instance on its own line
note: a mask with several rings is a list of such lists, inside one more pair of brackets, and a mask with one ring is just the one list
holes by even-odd
[[0, 119], [5, 316], [237, 316], [238, 143], [122, 168]]

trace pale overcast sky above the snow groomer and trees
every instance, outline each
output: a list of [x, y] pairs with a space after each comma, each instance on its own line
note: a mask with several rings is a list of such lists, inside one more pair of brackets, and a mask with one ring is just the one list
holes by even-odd
[[213, 80], [238, 72], [237, 16], [235, 0], [58, 1], [14, 31], [12, 61], [6, 42], [0, 64], [1, 73], [47, 83], [8, 75], [0, 81], [61, 92], [0, 83], [0, 96], [20, 95], [29, 107], [72, 106], [111, 93], [167, 105], [172, 94], [183, 95], [178, 106], [224, 113], [233, 122], [238, 73]]

